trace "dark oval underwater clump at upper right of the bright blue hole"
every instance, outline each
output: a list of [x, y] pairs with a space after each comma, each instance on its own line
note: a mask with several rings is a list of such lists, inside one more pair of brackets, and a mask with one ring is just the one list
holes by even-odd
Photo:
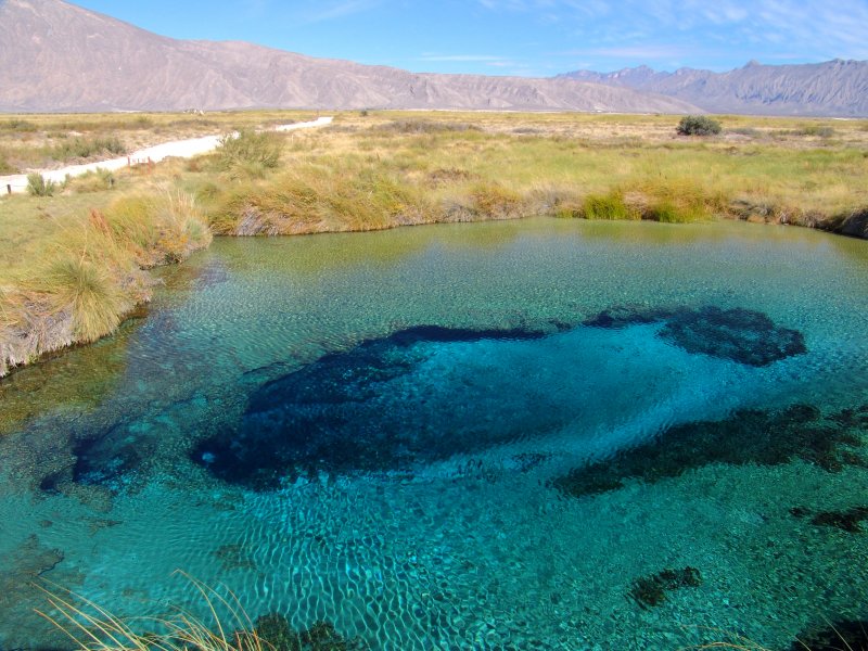
[[781, 328], [766, 315], [743, 308], [706, 306], [697, 310], [614, 308], [584, 322], [596, 328], [624, 328], [663, 322], [659, 336], [684, 348], [739, 363], [764, 367], [807, 352], [797, 330]]

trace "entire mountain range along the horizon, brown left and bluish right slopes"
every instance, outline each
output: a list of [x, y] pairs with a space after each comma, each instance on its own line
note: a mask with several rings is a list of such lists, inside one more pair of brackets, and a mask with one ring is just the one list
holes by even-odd
[[554, 78], [417, 74], [178, 40], [63, 0], [0, 0], [0, 112], [467, 108], [868, 116], [868, 62]]

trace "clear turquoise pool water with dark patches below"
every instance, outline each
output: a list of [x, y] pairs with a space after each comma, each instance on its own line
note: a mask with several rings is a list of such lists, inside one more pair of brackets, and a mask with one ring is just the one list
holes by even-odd
[[868, 617], [864, 241], [532, 219], [218, 240], [163, 275], [117, 336], [0, 383], [0, 649], [68, 648], [37, 576], [205, 615], [176, 570], [372, 649], [786, 649]]

